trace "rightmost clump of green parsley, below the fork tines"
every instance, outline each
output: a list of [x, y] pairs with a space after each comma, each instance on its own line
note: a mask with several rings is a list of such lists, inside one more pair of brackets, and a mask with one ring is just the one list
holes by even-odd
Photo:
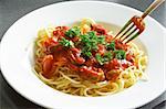
[[124, 50], [116, 50], [114, 51], [114, 53], [115, 53], [115, 58], [117, 59], [126, 58], [126, 52]]

